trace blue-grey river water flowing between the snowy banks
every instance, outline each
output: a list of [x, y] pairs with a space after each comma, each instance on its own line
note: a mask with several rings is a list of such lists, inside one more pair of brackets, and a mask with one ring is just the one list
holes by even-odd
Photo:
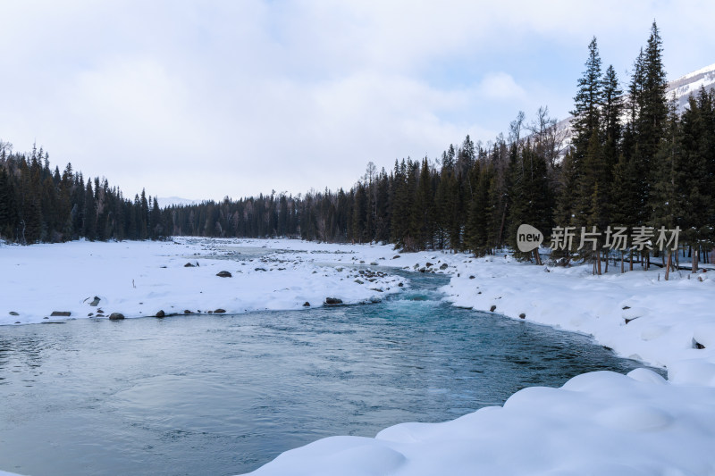
[[0, 328], [0, 470], [236, 474], [331, 435], [501, 405], [628, 372], [588, 338], [439, 301]]

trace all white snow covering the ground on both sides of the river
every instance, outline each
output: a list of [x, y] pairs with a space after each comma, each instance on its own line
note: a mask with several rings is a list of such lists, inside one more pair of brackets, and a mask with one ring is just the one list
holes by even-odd
[[[257, 258], [257, 250], [268, 254]], [[241, 261], [220, 259], [227, 256]], [[645, 369], [586, 373], [561, 388], [525, 388], [503, 406], [451, 422], [320, 439], [256, 475], [715, 474], [712, 271], [677, 271], [665, 281], [659, 268], [620, 274], [617, 266], [593, 276], [590, 266], [536, 266], [508, 255], [298, 240], [0, 245], [0, 323], [46, 322], [52, 311], [84, 317], [97, 308], [139, 317], [159, 309], [297, 309], [328, 296], [369, 302], [400, 292], [404, 280], [386, 272], [369, 281], [359, 270], [390, 267], [450, 274], [442, 290], [453, 305], [496, 306], [505, 318], [523, 313], [526, 321], [591, 335], [618, 355], [665, 368], [668, 380]], [[216, 277], [222, 270], [233, 277]], [[89, 305], [94, 296], [97, 307]]]

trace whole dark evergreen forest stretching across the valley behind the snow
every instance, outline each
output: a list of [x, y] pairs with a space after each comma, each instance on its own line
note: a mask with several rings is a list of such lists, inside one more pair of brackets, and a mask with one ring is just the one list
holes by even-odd
[[[302, 238], [385, 242], [404, 251], [450, 249], [475, 255], [516, 249], [517, 227], [548, 237], [556, 227], [676, 227], [682, 255], [707, 262], [715, 241], [715, 94], [701, 89], [678, 113], [668, 97], [662, 40], [655, 22], [622, 82], [603, 68], [596, 38], [576, 83], [568, 129], [542, 107], [509, 124], [506, 137], [467, 136], [433, 159], [396, 160], [366, 173], [349, 190], [297, 196], [259, 195], [160, 209], [156, 198], [133, 200], [107, 180], [84, 180], [71, 164], [51, 170], [48, 154], [13, 153], [0, 142], [0, 237], [31, 244], [77, 238], [164, 239], [170, 236]], [[621, 86], [623, 85], [623, 86]], [[548, 243], [546, 243], [548, 245]], [[607, 257], [621, 271], [647, 267], [648, 249], [619, 254], [561, 250], [559, 263], [585, 259], [601, 273]], [[667, 270], [680, 254], [658, 253]], [[540, 256], [516, 253], [537, 263]], [[668, 259], [668, 264], [666, 264]]]

